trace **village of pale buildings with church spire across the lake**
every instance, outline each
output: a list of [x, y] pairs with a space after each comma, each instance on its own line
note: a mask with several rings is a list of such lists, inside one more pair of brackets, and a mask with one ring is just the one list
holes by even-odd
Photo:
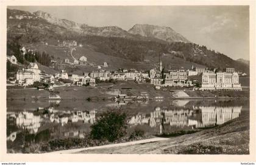
[[[77, 42], [63, 41], [63, 44], [60, 45], [73, 47], [77, 46]], [[79, 46], [82, 47], [82, 44]], [[21, 49], [23, 53], [26, 51], [24, 47]], [[83, 65], [87, 63], [87, 60], [87, 57], [83, 55], [79, 59], [74, 58], [73, 62], [66, 58], [63, 62], [70, 65]], [[14, 55], [7, 56], [7, 61], [12, 64], [18, 63]], [[7, 86], [29, 87], [35, 82], [43, 82], [50, 86], [50, 90], [53, 90], [53, 87], [57, 84], [60, 85], [60, 83], [65, 86], [95, 87], [101, 82], [133, 81], [140, 84], [150, 83], [156, 90], [165, 87], [191, 87], [193, 90], [242, 90], [239, 75], [246, 75], [246, 73], [235, 72], [233, 68], [227, 68], [224, 72], [218, 69], [193, 66], [188, 70], [165, 70], [161, 56], [158, 67], [147, 71], [136, 69], [108, 70], [107, 67], [107, 62], [104, 62], [102, 66], [95, 69], [96, 71], [84, 72], [82, 75], [68, 73], [65, 70], [51, 75], [41, 72], [37, 62], [29, 62], [26, 68], [16, 72], [15, 77], [8, 79]], [[38, 88], [42, 89], [41, 86]]]

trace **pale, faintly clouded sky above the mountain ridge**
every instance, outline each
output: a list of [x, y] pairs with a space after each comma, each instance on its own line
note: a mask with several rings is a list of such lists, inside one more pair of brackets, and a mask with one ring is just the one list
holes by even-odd
[[9, 6], [42, 10], [71, 21], [129, 30], [135, 24], [171, 27], [191, 42], [249, 60], [249, 6]]

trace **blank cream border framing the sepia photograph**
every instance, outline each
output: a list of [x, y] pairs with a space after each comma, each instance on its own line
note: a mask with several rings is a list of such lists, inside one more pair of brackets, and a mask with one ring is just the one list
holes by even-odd
[[[255, 154], [255, 1], [0, 1], [1, 81], [0, 81], [0, 161], [256, 161]], [[6, 8], [7, 5], [249, 5], [250, 7], [250, 154], [249, 155], [108, 155], [108, 154], [10, 154], [6, 153]]]

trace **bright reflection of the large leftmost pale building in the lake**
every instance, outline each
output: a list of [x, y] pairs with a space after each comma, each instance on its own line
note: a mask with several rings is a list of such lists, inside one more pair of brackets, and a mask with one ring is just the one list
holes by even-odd
[[40, 116], [35, 116], [31, 112], [21, 112], [16, 117], [16, 125], [18, 127], [24, 127], [30, 133], [37, 133], [40, 127]]

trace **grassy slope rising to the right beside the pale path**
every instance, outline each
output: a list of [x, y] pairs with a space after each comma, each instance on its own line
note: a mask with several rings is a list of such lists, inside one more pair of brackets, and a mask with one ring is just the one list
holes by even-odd
[[178, 136], [155, 143], [111, 147], [104, 150], [85, 150], [80, 153], [248, 154], [249, 110], [241, 113], [239, 118], [221, 126], [190, 135]]

